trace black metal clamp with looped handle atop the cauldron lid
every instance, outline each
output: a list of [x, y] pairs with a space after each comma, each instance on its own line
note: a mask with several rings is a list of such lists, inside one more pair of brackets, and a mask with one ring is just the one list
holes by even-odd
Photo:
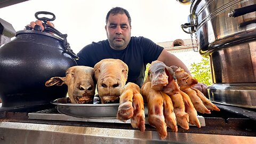
[[[39, 14], [49, 14], [49, 15], [52, 15], [53, 17], [52, 18], [46, 18], [46, 17], [42, 17], [42, 18], [39, 18], [38, 15]], [[52, 26], [49, 26], [47, 25], [47, 21], [53, 21], [55, 20], [55, 15], [51, 12], [46, 12], [46, 11], [39, 11], [39, 12], [36, 12], [35, 13], [35, 17], [36, 19], [38, 20], [42, 20], [44, 23], [43, 23], [43, 26], [44, 26], [44, 31], [45, 32], [51, 32], [51, 33], [54, 33], [56, 35], [58, 35], [59, 37], [63, 38], [63, 44], [64, 44], [64, 47], [65, 47], [65, 51], [71, 55], [71, 57], [73, 57], [74, 59], [78, 60], [79, 57], [78, 55], [76, 55], [73, 50], [70, 49], [70, 46], [69, 46], [69, 43], [67, 42], [67, 34], [61, 34], [60, 31], [58, 31], [57, 29], [55, 29], [54, 27]], [[39, 28], [41, 28], [39, 26]], [[40, 30], [40, 29], [39, 29]]]

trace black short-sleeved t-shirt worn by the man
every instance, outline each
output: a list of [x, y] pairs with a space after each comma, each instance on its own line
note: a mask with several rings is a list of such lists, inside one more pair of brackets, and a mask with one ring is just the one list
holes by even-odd
[[108, 40], [92, 42], [78, 52], [77, 64], [94, 67], [102, 59], [120, 59], [129, 67], [127, 82], [141, 87], [147, 63], [157, 60], [163, 49], [145, 37], [131, 37], [129, 45], [121, 51], [111, 49]]

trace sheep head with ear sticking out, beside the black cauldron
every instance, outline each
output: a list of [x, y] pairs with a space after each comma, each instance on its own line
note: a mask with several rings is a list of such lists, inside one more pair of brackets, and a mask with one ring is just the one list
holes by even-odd
[[45, 86], [66, 84], [71, 103], [93, 103], [95, 94], [94, 71], [91, 67], [74, 66], [66, 71], [66, 77], [52, 77]]

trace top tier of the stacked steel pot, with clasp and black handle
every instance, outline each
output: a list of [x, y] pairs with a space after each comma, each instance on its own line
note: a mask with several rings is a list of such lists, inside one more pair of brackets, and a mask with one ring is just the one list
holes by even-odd
[[[255, 38], [254, 11], [255, 0], [194, 0], [190, 7], [189, 23], [181, 27], [186, 33], [196, 32], [200, 53], [207, 56], [220, 46]], [[186, 31], [185, 28], [190, 30]]]

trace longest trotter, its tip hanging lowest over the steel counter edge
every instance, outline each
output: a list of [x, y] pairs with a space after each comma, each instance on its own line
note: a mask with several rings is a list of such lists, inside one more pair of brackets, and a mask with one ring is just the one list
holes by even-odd
[[165, 139], [167, 126], [164, 122], [163, 97], [157, 90], [151, 89], [151, 82], [141, 87], [143, 99], [148, 103], [148, 123], [158, 131], [159, 137]]

